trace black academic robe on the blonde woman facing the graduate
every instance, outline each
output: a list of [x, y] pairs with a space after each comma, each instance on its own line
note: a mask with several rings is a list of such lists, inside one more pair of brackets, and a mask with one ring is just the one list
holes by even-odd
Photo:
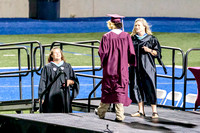
[[[139, 40], [135, 35], [132, 36], [135, 48], [137, 66], [129, 68], [130, 77], [130, 98], [133, 102], [147, 102], [156, 104], [156, 65], [155, 58], [164, 67], [161, 61], [161, 47], [155, 36], [147, 35]], [[157, 51], [157, 56], [145, 52], [143, 46]], [[166, 71], [165, 67], [164, 70]]]

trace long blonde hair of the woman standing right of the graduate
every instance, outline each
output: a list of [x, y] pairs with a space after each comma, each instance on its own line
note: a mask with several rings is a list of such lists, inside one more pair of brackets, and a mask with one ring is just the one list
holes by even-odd
[[[147, 23], [147, 21], [146, 21], [144, 18], [137, 18], [137, 19], [135, 20], [135, 23], [138, 22], [138, 21], [140, 21], [140, 22], [143, 24], [143, 26], [145, 27], [145, 33], [147, 33], [148, 35], [152, 35], [150, 26], [149, 26], [149, 24]], [[137, 33], [136, 33], [136, 30], [135, 30], [135, 23], [134, 23], [134, 28], [133, 28], [133, 31], [132, 31], [132, 33], [131, 33], [131, 36], [134, 36], [135, 34], [137, 34]]]

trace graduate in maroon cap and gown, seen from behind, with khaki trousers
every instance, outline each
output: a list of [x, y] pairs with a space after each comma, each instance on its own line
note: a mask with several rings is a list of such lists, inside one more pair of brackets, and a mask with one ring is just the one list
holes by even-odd
[[116, 121], [123, 121], [124, 107], [131, 104], [128, 97], [128, 64], [135, 64], [135, 52], [131, 36], [121, 30], [121, 18], [109, 14], [107, 21], [110, 32], [103, 35], [99, 46], [101, 67], [103, 68], [101, 103], [95, 113], [103, 119], [111, 103], [115, 104]]

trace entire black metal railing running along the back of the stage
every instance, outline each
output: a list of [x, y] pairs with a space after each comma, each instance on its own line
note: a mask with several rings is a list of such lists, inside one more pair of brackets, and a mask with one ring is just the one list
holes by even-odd
[[[33, 44], [38, 44], [38, 46], [33, 47]], [[87, 43], [90, 43], [91, 45], [86, 45]], [[92, 41], [80, 41], [80, 42], [62, 42], [62, 41], [55, 41], [52, 44], [49, 45], [41, 45], [40, 42], [38, 41], [32, 41], [32, 42], [22, 42], [22, 43], [13, 43], [13, 44], [1, 44], [0, 45], [0, 50], [18, 50], [18, 71], [11, 71], [11, 72], [0, 72], [0, 77], [19, 77], [19, 84], [20, 84], [20, 99], [22, 98], [21, 94], [21, 77], [22, 76], [27, 76], [29, 73], [31, 73], [31, 93], [32, 93], [32, 111], [34, 110], [34, 84], [33, 84], [33, 74], [36, 72], [38, 75], [41, 73], [40, 70], [42, 66], [45, 65], [45, 48], [53, 48], [54, 46], [60, 46], [61, 50], [63, 49], [63, 46], [75, 46], [75, 47], [83, 47], [83, 48], [89, 48], [91, 49], [91, 59], [92, 59], [92, 68], [91, 69], [82, 69], [82, 70], [75, 70], [77, 76], [83, 76], [83, 77], [88, 77], [88, 78], [93, 78], [93, 90], [90, 92], [88, 95], [88, 112], [90, 112], [90, 104], [91, 104], [91, 96], [92, 94], [95, 94], [96, 89], [101, 85], [102, 80], [96, 84], [95, 79], [102, 79], [102, 76], [97, 76], [96, 71], [100, 71], [102, 68], [95, 68], [95, 55], [94, 55], [94, 49], [98, 49], [98, 46], [94, 46], [94, 43], [100, 43], [98, 40], [92, 40]], [[21, 45], [27, 45], [30, 44], [30, 53], [27, 48], [27, 46], [21, 46]], [[14, 46], [15, 45], [15, 46]], [[19, 46], [16, 46], [19, 45]], [[8, 46], [8, 47], [7, 47]], [[13, 47], [12, 47], [13, 46]], [[171, 108], [178, 108], [178, 109], [183, 109], [185, 110], [185, 95], [186, 95], [186, 85], [187, 85], [187, 80], [194, 80], [194, 79], [189, 79], [187, 78], [187, 62], [188, 62], [188, 54], [191, 51], [194, 50], [200, 50], [199, 48], [194, 48], [190, 49], [186, 52], [186, 55], [184, 55], [184, 52], [180, 48], [175, 48], [175, 47], [168, 47], [168, 46], [161, 46], [162, 49], [167, 49], [172, 51], [172, 75], [161, 75], [157, 74], [158, 77], [162, 78], [170, 78], [172, 79], [172, 106]], [[36, 53], [37, 50], [40, 50], [40, 62], [39, 65], [36, 64]], [[27, 70], [22, 70], [21, 68], [21, 50], [25, 50], [26, 52], [26, 59], [27, 59]], [[182, 73], [180, 76], [175, 76], [175, 52], [179, 51], [182, 56]], [[39, 67], [37, 67], [39, 66]], [[80, 72], [88, 72], [92, 71], [92, 75], [88, 74], [82, 74]], [[183, 107], [174, 107], [174, 90], [175, 90], [175, 80], [176, 79], [182, 79], [185, 77], [184, 80], [184, 100], [183, 100]], [[96, 95], [94, 95], [96, 97]], [[170, 107], [170, 106], [167, 106]]]

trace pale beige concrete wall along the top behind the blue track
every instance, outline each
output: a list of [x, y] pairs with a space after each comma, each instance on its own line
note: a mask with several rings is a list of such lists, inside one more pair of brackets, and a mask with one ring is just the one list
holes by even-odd
[[[60, 17], [200, 18], [200, 0], [60, 0]], [[29, 17], [29, 0], [0, 0], [0, 18]]]

